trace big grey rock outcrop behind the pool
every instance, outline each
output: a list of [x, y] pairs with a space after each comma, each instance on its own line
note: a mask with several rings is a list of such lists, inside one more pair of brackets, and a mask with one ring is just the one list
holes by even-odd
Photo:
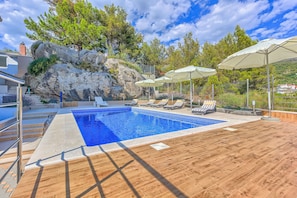
[[[104, 54], [73, 49], [51, 43], [37, 42], [31, 47], [33, 58], [50, 57], [55, 54], [59, 63], [37, 77], [30, 76], [29, 84], [34, 93], [45, 99], [94, 100], [95, 96], [118, 100], [138, 97], [142, 88], [135, 82], [143, 77], [136, 70], [126, 67], [118, 59], [106, 59]], [[87, 64], [87, 69], [78, 65]]]

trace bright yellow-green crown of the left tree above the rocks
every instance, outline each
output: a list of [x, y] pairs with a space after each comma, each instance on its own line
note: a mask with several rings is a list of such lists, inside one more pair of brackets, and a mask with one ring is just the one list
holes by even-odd
[[47, 13], [24, 20], [32, 40], [50, 41], [59, 45], [74, 45], [79, 50], [102, 49], [105, 27], [100, 23], [99, 10], [85, 0], [57, 0]]

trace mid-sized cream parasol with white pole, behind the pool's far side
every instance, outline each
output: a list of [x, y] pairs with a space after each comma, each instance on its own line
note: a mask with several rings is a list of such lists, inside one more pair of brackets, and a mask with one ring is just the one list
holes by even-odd
[[215, 69], [197, 67], [197, 66], [187, 66], [177, 70], [171, 70], [165, 74], [165, 76], [174, 79], [175, 81], [190, 81], [190, 103], [192, 108], [192, 79], [203, 78], [215, 75], [217, 71]]

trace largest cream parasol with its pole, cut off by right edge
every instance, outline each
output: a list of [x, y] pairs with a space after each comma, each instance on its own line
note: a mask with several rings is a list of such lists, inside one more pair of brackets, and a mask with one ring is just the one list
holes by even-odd
[[271, 117], [269, 64], [297, 57], [297, 36], [286, 39], [266, 39], [240, 50], [223, 60], [219, 69], [245, 69], [266, 66], [268, 111]]

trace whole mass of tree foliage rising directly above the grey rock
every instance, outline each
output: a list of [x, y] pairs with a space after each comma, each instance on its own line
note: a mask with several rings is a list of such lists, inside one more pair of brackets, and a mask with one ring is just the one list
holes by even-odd
[[126, 20], [124, 9], [105, 6], [99, 10], [87, 0], [45, 0], [50, 8], [38, 16], [24, 20], [32, 40], [49, 41], [59, 45], [75, 46], [78, 50], [92, 49], [118, 54], [127, 60], [140, 55], [143, 36]]

